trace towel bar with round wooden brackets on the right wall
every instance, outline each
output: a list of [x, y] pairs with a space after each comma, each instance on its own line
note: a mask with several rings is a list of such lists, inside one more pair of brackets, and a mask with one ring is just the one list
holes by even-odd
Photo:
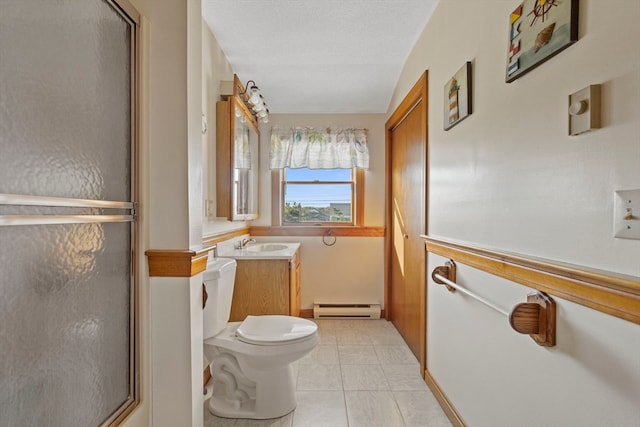
[[509, 324], [518, 333], [528, 334], [538, 344], [553, 347], [556, 344], [556, 304], [545, 293], [527, 295], [527, 302], [516, 304], [507, 312], [479, 295], [456, 283], [456, 264], [449, 260], [433, 269], [433, 281], [445, 285], [450, 292], [460, 291], [485, 306], [509, 318]]

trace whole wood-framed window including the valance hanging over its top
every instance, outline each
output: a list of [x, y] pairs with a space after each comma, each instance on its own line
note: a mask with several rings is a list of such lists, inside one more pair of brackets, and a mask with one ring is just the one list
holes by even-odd
[[269, 167], [273, 225], [363, 225], [366, 129], [274, 126]]

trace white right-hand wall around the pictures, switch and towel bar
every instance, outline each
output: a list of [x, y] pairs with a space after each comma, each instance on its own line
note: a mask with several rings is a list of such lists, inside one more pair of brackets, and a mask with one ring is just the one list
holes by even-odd
[[[429, 234], [640, 275], [640, 241], [612, 233], [613, 193], [640, 188], [640, 2], [580, 1], [580, 40], [504, 82], [518, 2], [442, 0], [407, 59], [389, 114], [429, 70]], [[474, 63], [474, 112], [443, 130], [444, 85]], [[568, 95], [602, 84], [603, 128], [567, 136]], [[428, 269], [444, 260], [430, 255]], [[529, 289], [460, 266], [508, 308]], [[428, 360], [469, 426], [636, 426], [640, 327], [558, 298], [558, 345], [429, 283]]]

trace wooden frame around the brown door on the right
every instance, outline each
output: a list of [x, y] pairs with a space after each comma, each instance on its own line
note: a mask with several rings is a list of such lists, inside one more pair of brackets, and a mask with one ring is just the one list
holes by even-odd
[[[391, 147], [392, 147], [392, 132], [393, 129], [404, 120], [404, 118], [421, 102], [425, 103], [424, 108], [424, 143], [425, 143], [425, 179], [424, 188], [421, 191], [425, 196], [425, 210], [429, 206], [428, 198], [428, 178], [429, 178], [429, 98], [428, 98], [428, 77], [429, 72], [425, 72], [420, 76], [418, 81], [409, 90], [404, 99], [393, 111], [387, 122], [385, 123], [385, 243], [384, 243], [384, 306], [385, 306], [385, 319], [391, 320], [393, 316], [391, 308], [391, 218], [392, 218], [392, 200], [391, 200]], [[428, 231], [428, 214], [425, 212], [425, 224], [424, 232]], [[427, 268], [427, 256], [425, 248], [425, 272], [429, 271]], [[426, 273], [425, 280], [422, 288], [420, 289], [420, 374], [424, 378], [425, 370], [427, 366], [427, 289], [426, 289]]]

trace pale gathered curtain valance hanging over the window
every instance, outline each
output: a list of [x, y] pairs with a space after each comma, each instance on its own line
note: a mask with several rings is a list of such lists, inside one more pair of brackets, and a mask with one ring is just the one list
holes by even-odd
[[274, 126], [269, 167], [368, 169], [367, 130]]

